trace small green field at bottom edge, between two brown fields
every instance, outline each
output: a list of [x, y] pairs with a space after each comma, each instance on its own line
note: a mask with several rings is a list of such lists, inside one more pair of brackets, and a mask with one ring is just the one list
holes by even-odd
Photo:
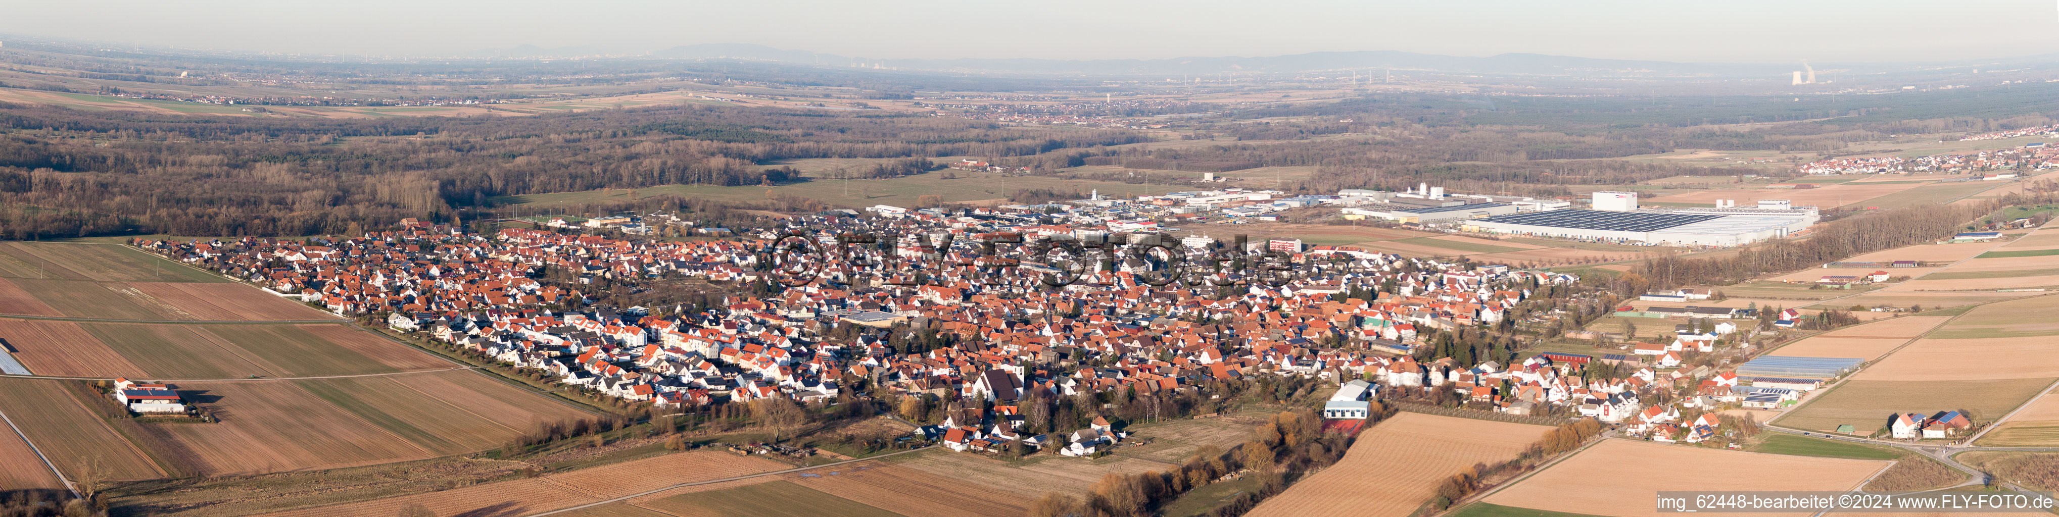
[[795, 482], [760, 482], [725, 490], [675, 494], [642, 505], [673, 515], [900, 517], [900, 513], [834, 496]]

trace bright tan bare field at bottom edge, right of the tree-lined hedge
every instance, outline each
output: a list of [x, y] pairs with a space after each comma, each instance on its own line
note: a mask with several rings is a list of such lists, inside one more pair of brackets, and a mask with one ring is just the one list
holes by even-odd
[[1266, 498], [1248, 515], [1408, 515], [1435, 494], [1443, 478], [1472, 463], [1513, 459], [1548, 430], [1402, 412], [1361, 433], [1342, 461]]

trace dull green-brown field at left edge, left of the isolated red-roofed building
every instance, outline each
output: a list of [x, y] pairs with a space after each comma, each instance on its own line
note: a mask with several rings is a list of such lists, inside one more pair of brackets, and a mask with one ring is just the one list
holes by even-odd
[[[101, 420], [101, 412], [84, 406], [93, 402], [78, 400], [80, 395], [97, 393], [76, 393], [89, 387], [66, 387], [62, 383], [72, 381], [0, 379], [0, 412], [6, 412], [21, 426], [21, 433], [29, 435], [49, 455], [49, 461], [58, 463], [58, 470], [64, 470], [70, 478], [80, 478], [89, 472], [107, 480], [150, 480], [165, 476], [163, 470], [150, 463], [144, 451], [109, 428]], [[115, 406], [113, 400], [103, 404], [109, 408]], [[12, 433], [0, 430], [0, 435]]]

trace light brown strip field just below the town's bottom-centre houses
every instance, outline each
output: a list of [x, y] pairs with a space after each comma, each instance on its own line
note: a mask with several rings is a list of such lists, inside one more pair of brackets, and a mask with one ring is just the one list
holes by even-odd
[[1135, 457], [1044, 457], [1019, 468], [1001, 459], [953, 451], [927, 451], [904, 457], [908, 459], [894, 457], [894, 463], [1021, 496], [1044, 496], [1046, 492], [1085, 494], [1093, 482], [1100, 482], [1110, 472], [1137, 474], [1174, 468]]

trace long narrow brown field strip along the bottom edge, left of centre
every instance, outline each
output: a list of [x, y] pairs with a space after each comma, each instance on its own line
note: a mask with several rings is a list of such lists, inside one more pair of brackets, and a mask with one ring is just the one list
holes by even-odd
[[513, 517], [626, 496], [667, 484], [721, 480], [782, 468], [789, 466], [733, 453], [694, 451], [550, 474], [533, 480], [474, 484], [443, 492], [264, 513], [261, 517], [383, 517], [397, 515], [408, 505], [424, 505], [434, 515]]

